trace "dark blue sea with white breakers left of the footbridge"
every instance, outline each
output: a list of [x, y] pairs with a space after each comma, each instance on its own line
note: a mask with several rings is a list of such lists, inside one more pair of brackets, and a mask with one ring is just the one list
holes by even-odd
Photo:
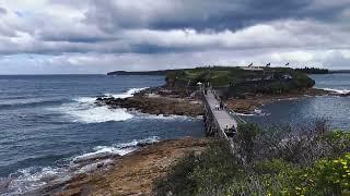
[[94, 105], [160, 86], [160, 76], [0, 76], [0, 195], [25, 193], [72, 161], [124, 155], [140, 143], [203, 136], [200, 119], [155, 117]]

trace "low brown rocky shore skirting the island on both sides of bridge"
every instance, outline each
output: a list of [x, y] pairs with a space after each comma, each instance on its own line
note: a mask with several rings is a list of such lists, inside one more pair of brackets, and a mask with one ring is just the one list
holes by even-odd
[[[241, 114], [256, 114], [260, 107], [280, 100], [300, 99], [316, 96], [348, 96], [337, 91], [311, 88], [303, 91], [288, 93], [281, 95], [246, 95], [244, 98], [229, 98], [228, 107]], [[112, 109], [126, 108], [129, 111], [138, 111], [155, 115], [185, 115], [200, 117], [203, 113], [202, 101], [196, 95], [184, 96], [176, 90], [156, 87], [143, 89], [129, 98], [101, 97], [96, 105], [108, 106]]]

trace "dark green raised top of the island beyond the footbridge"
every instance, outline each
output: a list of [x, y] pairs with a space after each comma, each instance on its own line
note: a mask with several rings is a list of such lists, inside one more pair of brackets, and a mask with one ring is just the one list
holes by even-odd
[[242, 69], [228, 66], [176, 70], [166, 74], [167, 84], [194, 88], [210, 83], [225, 97], [245, 94], [282, 94], [311, 88], [315, 82], [305, 73], [289, 68]]

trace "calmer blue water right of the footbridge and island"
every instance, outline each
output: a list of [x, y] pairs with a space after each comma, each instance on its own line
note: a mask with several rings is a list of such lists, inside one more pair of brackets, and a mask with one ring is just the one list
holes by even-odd
[[[311, 75], [315, 88], [334, 90], [339, 95], [350, 91], [350, 74]], [[328, 119], [334, 130], [350, 131], [350, 97], [317, 96], [280, 100], [261, 107], [260, 114], [245, 117], [258, 124], [302, 124], [317, 118]]]

